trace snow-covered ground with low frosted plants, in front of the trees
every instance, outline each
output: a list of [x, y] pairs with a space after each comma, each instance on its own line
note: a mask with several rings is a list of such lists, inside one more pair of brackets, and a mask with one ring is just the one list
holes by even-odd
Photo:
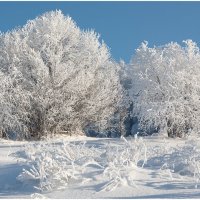
[[200, 198], [200, 138], [0, 139], [0, 198]]

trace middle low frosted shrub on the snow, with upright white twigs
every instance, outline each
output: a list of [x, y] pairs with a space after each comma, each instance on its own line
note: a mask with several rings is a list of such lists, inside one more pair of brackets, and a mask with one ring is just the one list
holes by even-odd
[[108, 182], [102, 190], [110, 191], [126, 185], [135, 187], [137, 172], [147, 162], [147, 147], [142, 138], [133, 141], [127, 141], [124, 137], [122, 139], [122, 145], [110, 144], [103, 154], [106, 157], [103, 175]]

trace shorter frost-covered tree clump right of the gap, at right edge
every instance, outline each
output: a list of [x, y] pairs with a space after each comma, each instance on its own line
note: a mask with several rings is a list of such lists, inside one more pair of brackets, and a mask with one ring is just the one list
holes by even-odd
[[191, 40], [184, 43], [150, 48], [144, 42], [128, 66], [132, 114], [144, 132], [182, 137], [199, 131], [200, 52]]

